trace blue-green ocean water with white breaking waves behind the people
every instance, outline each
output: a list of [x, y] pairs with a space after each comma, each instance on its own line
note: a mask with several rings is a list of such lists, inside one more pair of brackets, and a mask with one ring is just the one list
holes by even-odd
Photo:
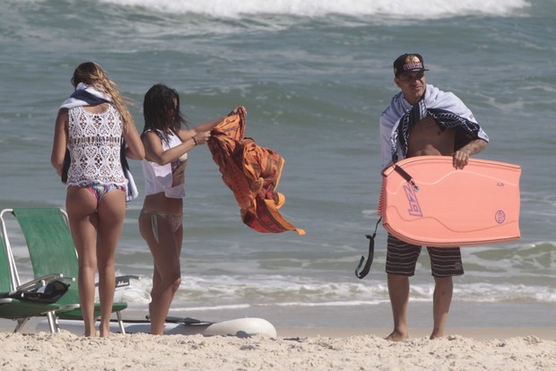
[[[556, 324], [556, 1], [4, 0], [0, 10], [0, 208], [64, 207], [49, 163], [54, 121], [87, 60], [135, 102], [139, 130], [144, 92], [164, 82], [193, 124], [245, 106], [246, 134], [286, 160], [282, 214], [306, 236], [248, 229], [210, 151], [190, 152], [183, 282], [170, 315], [390, 326], [384, 229], [369, 276], [353, 271], [377, 222], [378, 116], [397, 92], [391, 64], [419, 52], [428, 82], [454, 91], [490, 135], [477, 157], [523, 168], [522, 237], [464, 248], [448, 327]], [[131, 167], [142, 193], [141, 166]], [[128, 204], [117, 272], [148, 290], [142, 203]], [[9, 227], [29, 278], [24, 240]], [[432, 290], [423, 251], [411, 326], [430, 326]], [[132, 304], [127, 313], [145, 312]]]

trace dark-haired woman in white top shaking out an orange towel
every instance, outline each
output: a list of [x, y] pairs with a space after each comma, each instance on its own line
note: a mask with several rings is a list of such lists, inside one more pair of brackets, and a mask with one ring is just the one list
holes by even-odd
[[[244, 108], [235, 108], [232, 113], [238, 110]], [[181, 283], [179, 255], [187, 152], [206, 143], [211, 130], [225, 117], [183, 128], [186, 120], [179, 108], [178, 92], [162, 84], [153, 85], [146, 92], [143, 116], [145, 198], [139, 230], [154, 261], [149, 305], [151, 333], [162, 334], [169, 306]]]

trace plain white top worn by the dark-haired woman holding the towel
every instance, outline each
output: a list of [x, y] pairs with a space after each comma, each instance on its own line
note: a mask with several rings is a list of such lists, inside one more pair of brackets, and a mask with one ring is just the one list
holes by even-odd
[[[158, 132], [161, 134], [161, 131]], [[164, 151], [182, 143], [178, 135], [173, 133], [168, 135], [168, 139], [168, 141], [162, 141]], [[142, 160], [141, 165], [143, 166], [144, 192], [146, 195], [164, 192], [168, 198], [186, 196], [187, 153], [166, 165], [161, 166], [148, 160]]]

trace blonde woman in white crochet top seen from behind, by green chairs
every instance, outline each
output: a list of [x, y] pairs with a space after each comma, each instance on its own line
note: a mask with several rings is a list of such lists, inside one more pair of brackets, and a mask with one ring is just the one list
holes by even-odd
[[79, 256], [79, 297], [85, 336], [95, 336], [95, 273], [99, 271], [100, 336], [109, 335], [115, 290], [114, 255], [126, 215], [127, 180], [120, 162], [143, 160], [144, 148], [126, 101], [100, 65], [79, 65], [74, 93], [58, 110], [51, 162], [62, 176], [66, 149], [65, 208]]

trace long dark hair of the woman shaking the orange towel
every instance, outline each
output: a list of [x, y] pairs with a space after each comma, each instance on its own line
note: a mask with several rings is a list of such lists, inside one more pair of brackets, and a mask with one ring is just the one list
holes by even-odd
[[[160, 130], [167, 137], [170, 132], [178, 134], [181, 125], [187, 125], [179, 109], [178, 91], [161, 83], [152, 85], [145, 93], [143, 117], [143, 134], [148, 130], [153, 130], [155, 133], [156, 130]], [[166, 140], [166, 138], [162, 139]]]

